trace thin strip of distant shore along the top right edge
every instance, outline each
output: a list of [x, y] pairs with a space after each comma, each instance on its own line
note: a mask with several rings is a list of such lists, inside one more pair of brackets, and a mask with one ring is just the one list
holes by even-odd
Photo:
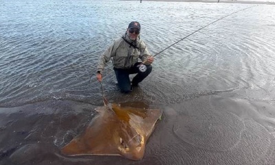
[[[122, 0], [122, 1], [140, 1], [140, 0]], [[212, 0], [142, 0], [142, 1], [181, 1], [181, 2], [205, 2], [205, 3], [218, 3], [218, 1]], [[219, 3], [254, 3], [254, 4], [267, 4], [267, 5], [275, 5], [275, 2], [269, 1], [219, 1]]]

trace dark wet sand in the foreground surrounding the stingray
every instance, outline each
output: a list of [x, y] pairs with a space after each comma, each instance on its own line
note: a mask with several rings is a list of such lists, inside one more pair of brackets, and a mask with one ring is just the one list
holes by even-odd
[[60, 153], [96, 116], [94, 105], [47, 100], [1, 108], [0, 164], [275, 164], [274, 107], [223, 95], [159, 105], [163, 118], [137, 162]]

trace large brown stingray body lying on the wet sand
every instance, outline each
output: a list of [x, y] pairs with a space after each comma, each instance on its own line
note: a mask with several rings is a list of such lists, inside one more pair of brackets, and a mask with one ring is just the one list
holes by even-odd
[[162, 115], [157, 109], [135, 109], [111, 104], [98, 108], [99, 114], [87, 129], [61, 149], [65, 155], [121, 155], [138, 160]]

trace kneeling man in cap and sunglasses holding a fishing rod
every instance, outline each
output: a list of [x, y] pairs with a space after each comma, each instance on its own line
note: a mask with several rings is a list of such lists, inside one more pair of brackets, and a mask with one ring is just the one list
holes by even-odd
[[[109, 48], [100, 56], [98, 61], [97, 78], [102, 81], [104, 65], [113, 58], [113, 70], [115, 71], [118, 87], [123, 93], [129, 93], [131, 87], [136, 87], [152, 71], [151, 63], [154, 58], [140, 39], [140, 23], [133, 21], [129, 24], [126, 33], [116, 39]], [[142, 62], [138, 62], [138, 58]], [[129, 74], [137, 74], [132, 82]]]

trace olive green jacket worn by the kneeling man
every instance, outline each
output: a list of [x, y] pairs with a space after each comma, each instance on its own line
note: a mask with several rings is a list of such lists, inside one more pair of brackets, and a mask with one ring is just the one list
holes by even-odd
[[[126, 43], [129, 41], [136, 47]], [[120, 69], [127, 69], [137, 63], [138, 58], [143, 62], [146, 61], [148, 56], [151, 56], [146, 48], [145, 43], [138, 36], [136, 41], [131, 41], [127, 34], [124, 34], [119, 39], [116, 39], [107, 50], [100, 56], [98, 61], [98, 71], [103, 72], [105, 64], [113, 58], [113, 67]]]

